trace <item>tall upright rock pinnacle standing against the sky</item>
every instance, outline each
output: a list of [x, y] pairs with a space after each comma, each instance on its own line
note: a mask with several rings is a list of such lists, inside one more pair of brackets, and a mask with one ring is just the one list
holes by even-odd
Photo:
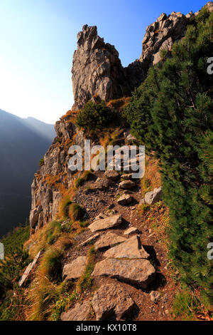
[[97, 26], [86, 24], [77, 34], [72, 89], [76, 110], [90, 99], [109, 101], [131, 92], [118, 51], [97, 35]]

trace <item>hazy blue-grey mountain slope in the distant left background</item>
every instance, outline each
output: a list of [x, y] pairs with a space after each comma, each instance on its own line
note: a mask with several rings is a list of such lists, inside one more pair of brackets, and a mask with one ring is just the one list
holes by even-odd
[[54, 125], [0, 109], [0, 236], [28, 217], [33, 175], [54, 137]]

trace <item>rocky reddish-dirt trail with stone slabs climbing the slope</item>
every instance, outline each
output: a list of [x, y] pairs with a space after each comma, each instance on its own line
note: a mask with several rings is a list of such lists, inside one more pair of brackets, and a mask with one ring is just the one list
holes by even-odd
[[[106, 178], [106, 175], [101, 171], [94, 172], [97, 178]], [[92, 187], [91, 181], [85, 182], [77, 190], [75, 201], [87, 206], [89, 225], [75, 237], [75, 244], [67, 249], [64, 264], [65, 267], [70, 264], [72, 268], [72, 262], [79, 257], [87, 257], [89, 249], [94, 245], [94, 270], [91, 289], [80, 294], [82, 308], [77, 302], [62, 314], [62, 320], [171, 319], [170, 307], [175, 283], [167, 267], [167, 251], [158, 243], [155, 232], [148, 225], [143, 225], [143, 219], [136, 209], [138, 205], [119, 205], [116, 201], [121, 180], [122, 175], [107, 190], [96, 190], [89, 195], [84, 194], [84, 189]], [[129, 192], [140, 201], [140, 189], [135, 188]], [[97, 203], [97, 199], [102, 201]], [[111, 204], [113, 209], [107, 210]], [[104, 228], [106, 222], [112, 223]], [[91, 225], [102, 229], [92, 232], [89, 229]], [[108, 286], [114, 289], [109, 289], [106, 293], [104, 287]], [[120, 296], [118, 292], [121, 292]], [[98, 303], [98, 297], [100, 301], [103, 300], [102, 304]], [[129, 304], [124, 304], [125, 308], [122, 307], [125, 309], [124, 313], [121, 308], [122, 299], [130, 301]], [[90, 309], [85, 307], [82, 316], [84, 304], [90, 306]], [[77, 309], [80, 314], [76, 314]], [[126, 314], [125, 311], [129, 312]]]

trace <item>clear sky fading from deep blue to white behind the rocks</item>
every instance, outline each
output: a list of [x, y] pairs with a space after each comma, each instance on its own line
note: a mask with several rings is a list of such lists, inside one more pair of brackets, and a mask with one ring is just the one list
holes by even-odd
[[72, 54], [84, 24], [119, 51], [141, 56], [146, 26], [165, 12], [201, 9], [202, 0], [0, 0], [0, 108], [55, 123], [69, 110]]

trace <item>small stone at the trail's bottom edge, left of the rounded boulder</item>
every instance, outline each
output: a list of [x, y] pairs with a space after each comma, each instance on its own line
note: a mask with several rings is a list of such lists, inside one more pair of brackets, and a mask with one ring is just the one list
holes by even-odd
[[87, 321], [90, 311], [90, 301], [84, 301], [83, 304], [77, 302], [75, 307], [61, 314], [62, 321]]

